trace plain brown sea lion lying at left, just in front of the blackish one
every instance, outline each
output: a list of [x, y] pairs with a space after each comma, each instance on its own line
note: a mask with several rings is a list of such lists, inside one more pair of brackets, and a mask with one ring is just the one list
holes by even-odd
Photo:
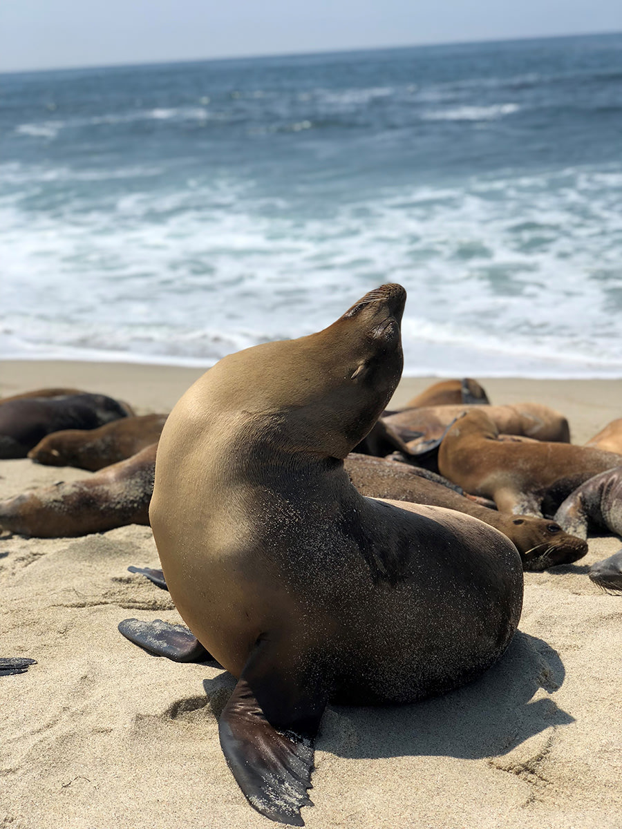
[[157, 443], [167, 417], [168, 414], [143, 414], [114, 420], [99, 429], [53, 432], [30, 450], [28, 458], [47, 466], [70, 466], [97, 472]]

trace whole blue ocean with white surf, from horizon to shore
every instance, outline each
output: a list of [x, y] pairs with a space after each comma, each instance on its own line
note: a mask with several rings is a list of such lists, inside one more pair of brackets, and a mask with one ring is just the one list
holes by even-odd
[[409, 293], [406, 374], [622, 376], [622, 35], [0, 76], [4, 356], [209, 365]]

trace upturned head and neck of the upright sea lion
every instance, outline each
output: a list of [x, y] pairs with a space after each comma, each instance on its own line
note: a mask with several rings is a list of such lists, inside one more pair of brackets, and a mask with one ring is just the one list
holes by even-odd
[[207, 372], [202, 400], [243, 411], [255, 437], [274, 434], [289, 453], [345, 458], [400, 381], [405, 301], [401, 285], [381, 285], [323, 331], [226, 356]]

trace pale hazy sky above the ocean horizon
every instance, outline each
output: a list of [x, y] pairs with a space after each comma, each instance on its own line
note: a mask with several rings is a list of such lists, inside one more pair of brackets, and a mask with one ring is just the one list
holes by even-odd
[[0, 0], [0, 71], [622, 31], [622, 0]]

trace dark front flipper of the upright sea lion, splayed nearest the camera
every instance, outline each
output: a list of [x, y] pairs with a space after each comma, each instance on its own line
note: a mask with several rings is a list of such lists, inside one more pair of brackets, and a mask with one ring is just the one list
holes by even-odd
[[292, 672], [262, 654], [260, 643], [222, 712], [219, 730], [226, 762], [250, 805], [272, 821], [304, 826], [300, 809], [313, 806], [307, 794], [312, 739], [326, 695], [313, 698], [309, 683], [292, 682]]

